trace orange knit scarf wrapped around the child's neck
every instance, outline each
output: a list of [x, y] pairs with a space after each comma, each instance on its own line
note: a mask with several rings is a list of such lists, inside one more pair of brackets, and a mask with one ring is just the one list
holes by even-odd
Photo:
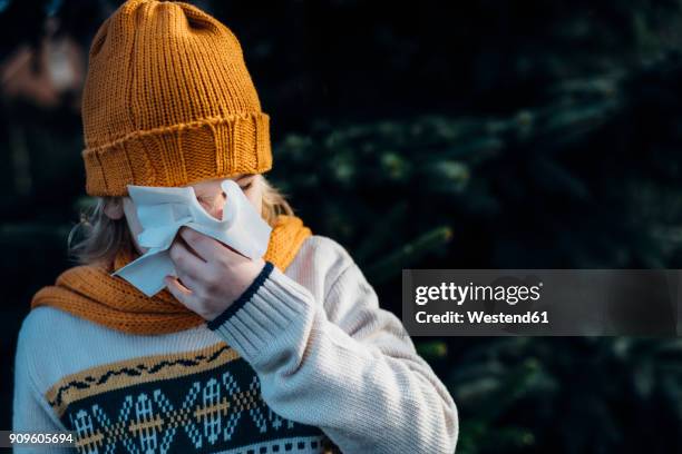
[[[281, 215], [275, 220], [263, 258], [284, 270], [310, 235], [310, 229], [300, 218]], [[114, 269], [135, 258], [130, 254], [119, 253]], [[97, 265], [67, 269], [53, 286], [43, 287], [33, 296], [31, 308], [57, 307], [129, 334], [174, 333], [205, 323], [167, 289], [147, 297], [128, 282], [110, 276], [114, 269]]]

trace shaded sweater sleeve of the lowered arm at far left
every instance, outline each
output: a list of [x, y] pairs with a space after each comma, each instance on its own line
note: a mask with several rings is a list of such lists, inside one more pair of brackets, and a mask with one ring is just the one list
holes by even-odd
[[[67, 430], [57, 420], [48, 402], [38, 392], [31, 361], [39, 351], [33, 348], [32, 336], [38, 336], [30, 325], [23, 325], [19, 333], [14, 357], [14, 395], [12, 404], [12, 432], [61, 433]], [[17, 446], [16, 453], [70, 453], [72, 447], [58, 445]]]

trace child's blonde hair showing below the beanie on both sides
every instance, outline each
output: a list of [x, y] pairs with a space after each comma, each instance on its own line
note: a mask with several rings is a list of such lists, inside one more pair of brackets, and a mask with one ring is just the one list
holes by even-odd
[[[254, 184], [263, 186], [263, 208], [261, 215], [274, 226], [280, 215], [293, 215], [293, 209], [279, 189], [273, 187], [262, 174], [257, 174]], [[71, 229], [68, 239], [69, 254], [84, 265], [111, 264], [119, 250], [135, 249], [133, 236], [125, 216], [111, 219], [105, 213], [109, 204], [120, 203], [120, 197], [97, 197], [97, 203], [86, 213]], [[75, 240], [80, 236], [78, 240]]]

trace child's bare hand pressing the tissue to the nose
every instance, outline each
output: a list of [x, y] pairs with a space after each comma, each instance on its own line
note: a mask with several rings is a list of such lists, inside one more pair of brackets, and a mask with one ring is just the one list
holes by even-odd
[[166, 276], [166, 286], [188, 309], [213, 320], [249, 288], [265, 260], [252, 260], [187, 227], [179, 235], [186, 244], [176, 238], [169, 249], [179, 280]]

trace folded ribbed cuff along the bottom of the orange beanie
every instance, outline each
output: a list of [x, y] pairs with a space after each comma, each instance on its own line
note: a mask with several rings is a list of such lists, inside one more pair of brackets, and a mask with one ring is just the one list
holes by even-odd
[[186, 186], [272, 168], [270, 117], [263, 112], [131, 132], [82, 151], [86, 191], [126, 196], [126, 185]]

